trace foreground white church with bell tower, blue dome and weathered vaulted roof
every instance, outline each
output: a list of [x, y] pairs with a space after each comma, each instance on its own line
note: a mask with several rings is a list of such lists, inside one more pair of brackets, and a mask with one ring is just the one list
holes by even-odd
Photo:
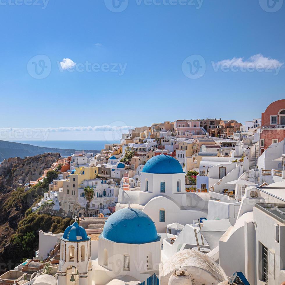
[[131, 207], [106, 220], [97, 256], [92, 257], [94, 244], [74, 222], [60, 237], [60, 260], [51, 275], [34, 274], [26, 285], [192, 285], [194, 279], [202, 285], [223, 284], [227, 278], [218, 263], [195, 250], [182, 250], [162, 262], [161, 237], [153, 220]]

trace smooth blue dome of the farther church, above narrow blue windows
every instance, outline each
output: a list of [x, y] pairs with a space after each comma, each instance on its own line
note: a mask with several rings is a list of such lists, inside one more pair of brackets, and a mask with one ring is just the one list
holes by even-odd
[[156, 174], [184, 173], [180, 163], [172, 156], [165, 154], [152, 157], [147, 161], [142, 172]]

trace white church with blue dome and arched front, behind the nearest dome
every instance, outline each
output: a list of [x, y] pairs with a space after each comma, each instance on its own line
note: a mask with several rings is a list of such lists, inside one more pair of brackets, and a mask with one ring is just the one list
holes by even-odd
[[152, 157], [140, 177], [140, 189], [120, 189], [116, 211], [131, 202], [133, 209], [152, 218], [159, 233], [174, 222], [186, 225], [207, 218], [209, 194], [186, 192], [185, 172], [175, 158], [165, 154]]

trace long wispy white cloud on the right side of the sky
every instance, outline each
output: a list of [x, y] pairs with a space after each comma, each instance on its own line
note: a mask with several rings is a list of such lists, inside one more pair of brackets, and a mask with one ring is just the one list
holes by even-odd
[[284, 65], [284, 63], [280, 62], [277, 59], [265, 57], [262, 54], [255, 54], [251, 56], [248, 60], [244, 60], [244, 58], [232, 58], [232, 59], [225, 59], [221, 60], [217, 63], [218, 66], [236, 66], [239, 68], [248, 68], [252, 67], [257, 70], [273, 70], [278, 69]]

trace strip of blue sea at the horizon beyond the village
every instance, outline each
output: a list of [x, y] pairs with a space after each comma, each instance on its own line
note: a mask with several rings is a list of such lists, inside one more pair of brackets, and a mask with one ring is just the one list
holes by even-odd
[[78, 149], [78, 150], [101, 150], [105, 144], [120, 143], [117, 140], [14, 140], [15, 143], [25, 143], [36, 145], [38, 147], [52, 147], [61, 149]]

